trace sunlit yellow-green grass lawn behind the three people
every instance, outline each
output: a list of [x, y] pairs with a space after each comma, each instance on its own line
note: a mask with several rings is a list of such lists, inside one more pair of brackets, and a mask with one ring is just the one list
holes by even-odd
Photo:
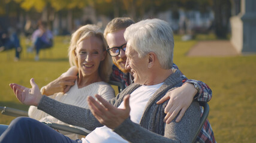
[[[200, 36], [199, 39], [207, 39]], [[214, 38], [210, 38], [214, 39]], [[66, 42], [65, 42], [66, 41]], [[69, 67], [68, 38], [56, 37], [52, 49], [41, 51], [40, 61], [34, 54], [23, 52], [14, 62], [14, 51], [0, 53], [0, 106], [27, 110], [16, 100], [9, 83], [29, 86], [34, 77], [43, 86], [59, 77]], [[256, 55], [237, 57], [186, 57], [197, 41], [183, 42], [175, 36], [174, 63], [189, 79], [201, 80], [210, 86], [209, 121], [217, 142], [255, 142], [256, 140]], [[0, 115], [0, 124], [9, 124], [13, 117]]]

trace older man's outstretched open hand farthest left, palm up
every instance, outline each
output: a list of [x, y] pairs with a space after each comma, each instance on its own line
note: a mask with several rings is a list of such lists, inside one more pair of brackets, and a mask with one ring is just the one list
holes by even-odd
[[43, 95], [41, 95], [40, 89], [33, 78], [30, 80], [30, 83], [32, 88], [26, 88], [22, 85], [17, 85], [16, 83], [11, 83], [10, 86], [20, 102], [26, 105], [37, 106]]

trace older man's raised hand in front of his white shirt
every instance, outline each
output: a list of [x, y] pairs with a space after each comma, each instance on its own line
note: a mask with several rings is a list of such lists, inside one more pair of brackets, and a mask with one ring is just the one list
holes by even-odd
[[129, 112], [131, 111], [129, 107], [129, 96], [126, 95], [124, 97], [124, 109], [114, 107], [100, 95], [95, 95], [95, 97], [102, 105], [92, 97], [88, 97], [88, 103], [92, 114], [94, 114], [101, 124], [106, 125], [110, 129], [116, 129], [129, 117]]

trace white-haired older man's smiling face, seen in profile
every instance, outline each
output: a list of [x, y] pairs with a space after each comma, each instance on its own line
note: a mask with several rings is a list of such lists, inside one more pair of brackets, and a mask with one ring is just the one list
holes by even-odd
[[127, 42], [127, 63], [125, 64], [125, 68], [127, 70], [131, 70], [130, 73], [134, 77], [134, 83], [138, 83], [140, 85], [147, 85], [148, 74], [147, 74], [147, 55], [145, 57], [139, 58], [138, 52], [136, 52], [132, 46]]

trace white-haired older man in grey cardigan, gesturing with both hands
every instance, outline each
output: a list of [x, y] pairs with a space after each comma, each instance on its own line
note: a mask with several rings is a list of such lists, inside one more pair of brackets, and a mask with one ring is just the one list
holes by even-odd
[[[63, 104], [32, 88], [12, 83], [17, 98], [71, 125], [93, 130], [86, 138], [71, 140], [53, 129], [25, 117], [15, 119], [0, 142], [191, 142], [200, 122], [197, 101], [186, 110], [180, 122], [162, 122], [168, 101], [156, 104], [167, 91], [182, 85], [179, 70], [172, 71], [173, 33], [165, 21], [152, 19], [132, 24], [125, 31], [126, 69], [134, 84], [109, 102], [88, 97], [90, 110]], [[17, 139], [18, 138], [18, 139]]]

